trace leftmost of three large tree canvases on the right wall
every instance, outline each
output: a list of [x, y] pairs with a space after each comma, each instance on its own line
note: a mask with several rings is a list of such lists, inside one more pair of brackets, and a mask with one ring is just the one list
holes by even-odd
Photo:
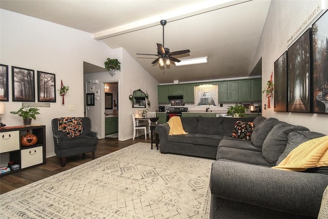
[[288, 63], [285, 51], [274, 63], [274, 111], [288, 111]]

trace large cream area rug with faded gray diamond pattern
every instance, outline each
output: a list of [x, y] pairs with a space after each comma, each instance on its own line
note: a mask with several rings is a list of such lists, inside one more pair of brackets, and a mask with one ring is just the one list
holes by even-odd
[[213, 160], [137, 143], [0, 196], [1, 218], [209, 218]]

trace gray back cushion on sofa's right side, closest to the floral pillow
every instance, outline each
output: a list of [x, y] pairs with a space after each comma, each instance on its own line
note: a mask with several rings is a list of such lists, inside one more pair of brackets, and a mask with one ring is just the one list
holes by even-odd
[[253, 145], [257, 148], [262, 148], [263, 142], [272, 128], [279, 123], [277, 118], [267, 118], [258, 126], [255, 126], [252, 135], [251, 141]]

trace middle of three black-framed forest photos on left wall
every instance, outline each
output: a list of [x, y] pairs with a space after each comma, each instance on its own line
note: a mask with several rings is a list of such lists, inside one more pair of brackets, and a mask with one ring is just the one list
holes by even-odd
[[34, 70], [11, 67], [12, 101], [35, 102]]

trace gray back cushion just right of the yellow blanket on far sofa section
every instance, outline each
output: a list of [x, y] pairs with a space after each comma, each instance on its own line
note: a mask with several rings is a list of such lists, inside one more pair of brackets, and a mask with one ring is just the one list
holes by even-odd
[[[197, 133], [222, 135], [223, 117], [203, 117], [198, 116]], [[231, 131], [231, 130], [230, 130]]]

